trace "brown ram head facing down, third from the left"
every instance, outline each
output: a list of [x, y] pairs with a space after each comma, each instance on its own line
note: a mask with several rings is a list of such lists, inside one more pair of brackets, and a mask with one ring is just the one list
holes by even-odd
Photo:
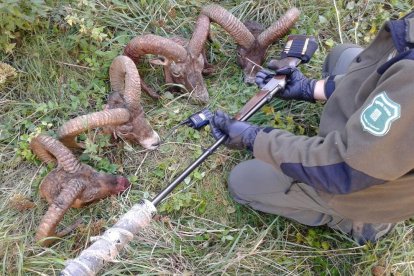
[[[209, 101], [207, 88], [202, 73], [207, 72], [208, 64], [204, 54], [204, 44], [210, 29], [210, 20], [200, 15], [194, 33], [187, 41], [183, 38], [163, 38], [157, 35], [142, 35], [132, 39], [125, 47], [124, 54], [136, 63], [147, 54], [159, 55], [151, 63], [162, 65], [166, 83], [183, 85], [191, 94], [190, 98], [197, 103]], [[142, 87], [150, 95], [159, 97], [147, 84]]]

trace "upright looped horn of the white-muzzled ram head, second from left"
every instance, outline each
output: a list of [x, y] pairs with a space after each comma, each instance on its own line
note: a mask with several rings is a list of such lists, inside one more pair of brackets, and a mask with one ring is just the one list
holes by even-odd
[[141, 111], [141, 81], [138, 69], [131, 58], [116, 57], [109, 68], [112, 90], [123, 95], [129, 110]]

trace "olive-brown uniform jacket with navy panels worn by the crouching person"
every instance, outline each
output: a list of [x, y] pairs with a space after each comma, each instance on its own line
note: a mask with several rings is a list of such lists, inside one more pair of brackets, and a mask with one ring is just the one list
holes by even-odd
[[396, 54], [386, 29], [333, 79], [318, 136], [267, 128], [253, 149], [344, 218], [371, 223], [414, 216], [414, 60], [377, 72]]

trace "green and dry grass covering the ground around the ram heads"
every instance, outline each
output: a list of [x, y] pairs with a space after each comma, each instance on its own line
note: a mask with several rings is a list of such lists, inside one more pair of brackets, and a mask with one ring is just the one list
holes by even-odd
[[[69, 210], [62, 224], [82, 218], [82, 225], [51, 248], [34, 243], [47, 208], [38, 186], [50, 168], [28, 149], [30, 137], [40, 131], [55, 135], [69, 118], [101, 110], [109, 93], [109, 65], [131, 38], [142, 33], [190, 37], [195, 15], [210, 2], [48, 1], [48, 17], [41, 18], [45, 24], [22, 31], [12, 53], [0, 52], [1, 60], [18, 72], [0, 91], [2, 275], [58, 274], [64, 261], [76, 257], [91, 236], [113, 225], [141, 198], [156, 195], [213, 142], [208, 130], [198, 133], [186, 128], [151, 152], [125, 143], [104, 148], [95, 140], [98, 151], [84, 153], [83, 160], [128, 176], [132, 189]], [[341, 38], [366, 45], [385, 19], [400, 16], [413, 3], [336, 1], [335, 8], [334, 1], [328, 0], [230, 0], [222, 5], [239, 18], [257, 19], [266, 26], [288, 7], [297, 6], [302, 15], [293, 32], [312, 34], [320, 45], [313, 61], [302, 69], [319, 77], [324, 56]], [[270, 47], [268, 56], [277, 56], [282, 45], [281, 41]], [[210, 106], [235, 114], [256, 89], [241, 82], [234, 41], [216, 25], [207, 50], [210, 61], [220, 68], [206, 78]], [[186, 97], [169, 94], [159, 68], [143, 64], [139, 72], [162, 91], [158, 102], [146, 95], [142, 98], [147, 118], [162, 137], [200, 109]], [[275, 101], [252, 121], [313, 135], [321, 108]], [[412, 220], [399, 223], [380, 242], [361, 247], [326, 227], [306, 227], [236, 204], [228, 195], [225, 179], [235, 164], [247, 158], [251, 158], [247, 152], [224, 148], [211, 156], [160, 205], [161, 212], [151, 226], [102, 275], [369, 275], [373, 268], [389, 275], [414, 274]]]

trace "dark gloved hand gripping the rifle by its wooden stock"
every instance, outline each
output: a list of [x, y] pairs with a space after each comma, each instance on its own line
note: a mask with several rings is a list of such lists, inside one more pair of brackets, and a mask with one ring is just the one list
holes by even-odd
[[276, 96], [285, 100], [302, 100], [315, 102], [313, 97], [317, 80], [308, 79], [298, 68], [284, 67], [278, 68], [276, 61], [271, 60], [268, 63], [269, 69], [275, 70], [271, 72], [262, 69], [256, 74], [256, 84], [263, 88], [275, 74], [286, 75], [285, 89]]

